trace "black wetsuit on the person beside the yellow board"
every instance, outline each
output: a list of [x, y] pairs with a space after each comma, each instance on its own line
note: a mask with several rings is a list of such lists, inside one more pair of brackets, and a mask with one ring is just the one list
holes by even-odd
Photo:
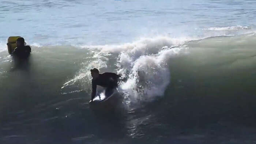
[[18, 58], [27, 58], [29, 57], [31, 52], [31, 48], [30, 46], [26, 45], [26, 46], [22, 46], [22, 47], [17, 47], [14, 49], [14, 51], [12, 52], [12, 56], [16, 56]]

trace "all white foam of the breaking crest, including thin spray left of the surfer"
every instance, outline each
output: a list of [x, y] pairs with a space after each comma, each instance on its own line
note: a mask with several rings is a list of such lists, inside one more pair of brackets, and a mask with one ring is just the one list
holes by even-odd
[[[128, 101], [151, 101], [162, 96], [165, 88], [170, 83], [170, 69], [168, 61], [171, 57], [181, 53], [189, 38], [140, 38], [138, 41], [120, 45], [84, 45], [93, 53], [87, 57], [84, 66], [78, 74], [62, 88], [82, 82], [84, 88], [91, 92], [90, 69], [106, 69], [109, 66], [109, 58], [116, 61], [111, 65], [117, 66], [117, 73], [121, 74], [124, 81], [120, 83], [119, 91], [123, 92]], [[113, 57], [113, 56], [118, 57]], [[77, 85], [77, 84], [76, 84]], [[89, 89], [88, 89], [89, 88]], [[129, 103], [129, 102], [127, 102]]]

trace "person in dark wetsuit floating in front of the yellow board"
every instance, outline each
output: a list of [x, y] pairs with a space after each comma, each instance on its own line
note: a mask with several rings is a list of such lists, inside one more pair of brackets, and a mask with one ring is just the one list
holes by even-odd
[[[7, 46], [9, 43], [7, 43]], [[27, 58], [29, 57], [31, 48], [29, 45], [25, 45], [25, 39], [20, 37], [16, 40], [16, 48], [11, 52], [12, 56], [18, 58]]]

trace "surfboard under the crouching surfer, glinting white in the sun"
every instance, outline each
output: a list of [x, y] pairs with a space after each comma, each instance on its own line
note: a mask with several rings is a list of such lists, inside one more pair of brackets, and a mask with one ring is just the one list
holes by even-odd
[[[103, 102], [103, 101], [107, 101], [109, 98], [111, 98], [114, 94], [117, 93], [116, 88], [113, 88], [111, 90], [103, 90], [100, 92], [97, 92], [97, 94], [95, 95], [93, 102]], [[92, 101], [90, 101], [89, 103], [91, 103]]]

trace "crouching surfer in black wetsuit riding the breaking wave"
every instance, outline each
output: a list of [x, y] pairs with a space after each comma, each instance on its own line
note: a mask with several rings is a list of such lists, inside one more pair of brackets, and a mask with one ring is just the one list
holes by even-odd
[[91, 101], [93, 101], [94, 96], [96, 95], [96, 88], [98, 86], [106, 87], [106, 92], [117, 87], [117, 81], [120, 75], [112, 72], [99, 73], [97, 68], [91, 69], [91, 76], [93, 79], [92, 83], [92, 93]]

